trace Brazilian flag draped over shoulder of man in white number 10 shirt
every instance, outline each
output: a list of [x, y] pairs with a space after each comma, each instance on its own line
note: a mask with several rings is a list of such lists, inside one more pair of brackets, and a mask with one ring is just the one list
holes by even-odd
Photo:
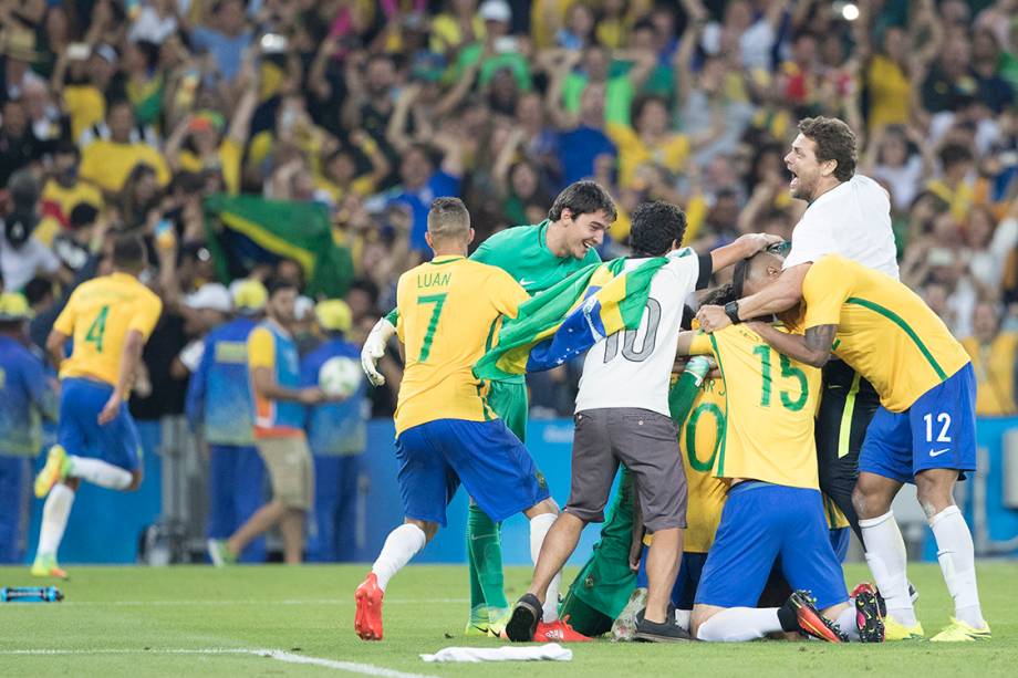
[[[679, 254], [693, 255], [686, 248]], [[676, 257], [676, 254], [672, 254]], [[506, 319], [498, 344], [474, 365], [479, 379], [551, 369], [622, 330], [640, 326], [654, 274], [665, 257], [626, 272], [625, 259], [594, 263], [523, 302]]]

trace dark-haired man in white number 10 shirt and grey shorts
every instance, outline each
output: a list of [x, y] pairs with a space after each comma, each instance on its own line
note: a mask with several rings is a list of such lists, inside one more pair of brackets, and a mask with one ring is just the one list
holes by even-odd
[[506, 626], [511, 640], [533, 638], [548, 585], [576, 547], [583, 528], [604, 520], [620, 462], [634, 476], [644, 525], [654, 534], [646, 562], [647, 606], [637, 614], [636, 637], [690, 639], [675, 624], [669, 604], [686, 526], [686, 477], [668, 410], [683, 306], [689, 294], [707, 285], [714, 270], [755, 254], [777, 238], [742, 236], [697, 257], [688, 248], [679, 249], [685, 229], [686, 216], [674, 205], [655, 201], [633, 211], [634, 258], [625, 270], [653, 257], [667, 257], [668, 262], [654, 274], [640, 326], [601, 340], [583, 362], [569, 502], [541, 546], [529, 592], [513, 607]]

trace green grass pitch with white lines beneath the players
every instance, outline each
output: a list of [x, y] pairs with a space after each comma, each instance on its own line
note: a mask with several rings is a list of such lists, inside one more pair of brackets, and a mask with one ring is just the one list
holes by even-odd
[[[0, 604], [4, 676], [1015, 676], [1018, 675], [1018, 564], [980, 564], [984, 611], [994, 639], [979, 644], [817, 642], [741, 645], [571, 645], [570, 663], [425, 664], [420, 653], [453, 645], [500, 645], [463, 636], [466, 569], [411, 566], [389, 585], [385, 639], [353, 632], [353, 591], [366, 566], [71, 567], [60, 604]], [[568, 573], [571, 575], [574, 571]], [[863, 565], [846, 567], [852, 583]], [[519, 595], [529, 569], [512, 567]], [[952, 611], [936, 565], [913, 565], [927, 636]], [[0, 567], [0, 585], [38, 585], [27, 567]], [[283, 650], [290, 663], [250, 649]], [[55, 650], [44, 654], [43, 650]], [[197, 651], [196, 651], [197, 650]], [[210, 651], [217, 650], [217, 651]], [[301, 657], [332, 666], [295, 664]], [[335, 664], [340, 663], [340, 664]], [[354, 666], [357, 665], [357, 666]]]

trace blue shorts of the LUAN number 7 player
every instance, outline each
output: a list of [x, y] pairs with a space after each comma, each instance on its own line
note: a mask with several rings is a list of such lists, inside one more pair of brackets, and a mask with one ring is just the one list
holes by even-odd
[[488, 518], [506, 520], [548, 499], [530, 452], [501, 419], [436, 419], [396, 438], [407, 518], [446, 525], [446, 505], [463, 482]]

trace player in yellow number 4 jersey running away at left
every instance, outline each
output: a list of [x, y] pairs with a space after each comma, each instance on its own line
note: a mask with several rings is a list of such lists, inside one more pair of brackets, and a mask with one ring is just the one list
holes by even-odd
[[[113, 490], [136, 490], [142, 482], [142, 446], [127, 411], [127, 398], [163, 302], [137, 280], [145, 269], [145, 246], [121, 236], [113, 247], [113, 270], [71, 294], [46, 340], [60, 369], [60, 427], [56, 445], [35, 478], [35, 496], [46, 497], [32, 574], [65, 577], [56, 550], [82, 480]], [[64, 345], [74, 341], [71, 357]]]

